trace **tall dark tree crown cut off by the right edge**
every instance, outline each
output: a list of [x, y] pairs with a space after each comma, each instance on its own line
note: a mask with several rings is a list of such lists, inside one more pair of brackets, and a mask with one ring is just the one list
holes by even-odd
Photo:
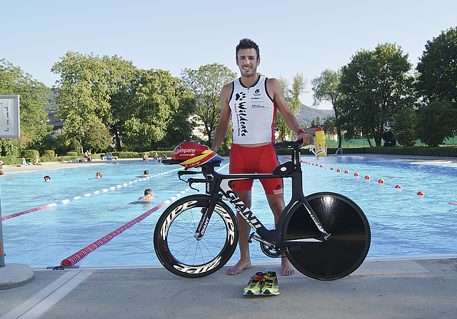
[[442, 31], [427, 41], [416, 67], [417, 90], [428, 101], [457, 103], [457, 28]]

